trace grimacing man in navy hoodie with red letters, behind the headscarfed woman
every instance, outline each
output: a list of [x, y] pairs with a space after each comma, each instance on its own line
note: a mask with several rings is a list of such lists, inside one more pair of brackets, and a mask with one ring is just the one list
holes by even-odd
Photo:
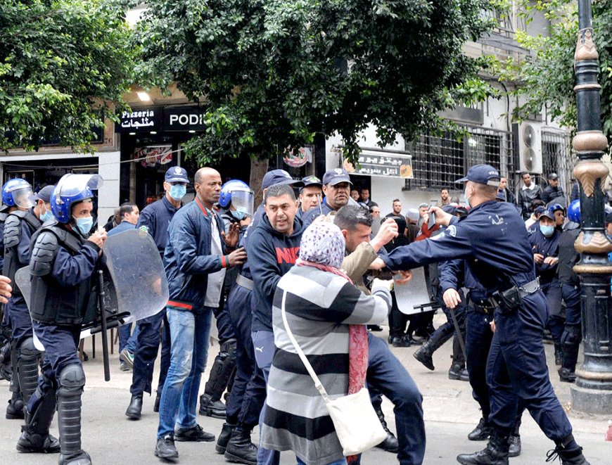
[[[276, 284], [283, 274], [293, 267], [300, 250], [302, 222], [298, 212], [298, 200], [291, 186], [270, 186], [264, 197], [266, 215], [250, 232], [248, 254], [250, 272], [253, 275], [253, 346], [255, 361], [267, 382], [274, 356], [274, 332], [272, 331], [272, 300]], [[262, 417], [263, 418], [263, 415]], [[250, 433], [250, 432], [249, 432]], [[233, 434], [236, 434], [234, 431]], [[257, 464], [278, 464], [279, 452], [257, 451]], [[227, 455], [226, 455], [227, 457]]]

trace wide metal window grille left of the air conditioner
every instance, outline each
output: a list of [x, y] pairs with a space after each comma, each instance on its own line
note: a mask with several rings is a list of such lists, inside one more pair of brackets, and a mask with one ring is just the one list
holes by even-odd
[[514, 148], [511, 132], [468, 127], [468, 134], [447, 133], [438, 137], [421, 134], [419, 139], [406, 144], [412, 153], [414, 179], [409, 189], [456, 188], [454, 181], [463, 177], [468, 167], [487, 163], [496, 167], [502, 176], [514, 172]]

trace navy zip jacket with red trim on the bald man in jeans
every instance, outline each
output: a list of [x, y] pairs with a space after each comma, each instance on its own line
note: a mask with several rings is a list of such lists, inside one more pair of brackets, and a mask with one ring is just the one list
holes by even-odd
[[[162, 199], [163, 200], [163, 199]], [[212, 227], [215, 215], [217, 227]], [[229, 266], [227, 255], [211, 255], [211, 234], [221, 236], [223, 219], [207, 210], [196, 197], [176, 212], [168, 228], [164, 268], [168, 279], [168, 305], [183, 310], [200, 308], [205, 301], [208, 274]]]

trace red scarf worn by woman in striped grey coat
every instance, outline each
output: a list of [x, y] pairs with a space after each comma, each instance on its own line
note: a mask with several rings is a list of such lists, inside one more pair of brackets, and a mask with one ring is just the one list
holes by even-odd
[[[352, 280], [336, 267], [307, 262], [301, 258], [298, 258], [295, 264], [337, 274], [352, 284]], [[348, 335], [348, 393], [355, 394], [364, 387], [366, 382], [366, 371], [368, 369], [368, 330], [364, 324], [350, 324], [348, 326]]]

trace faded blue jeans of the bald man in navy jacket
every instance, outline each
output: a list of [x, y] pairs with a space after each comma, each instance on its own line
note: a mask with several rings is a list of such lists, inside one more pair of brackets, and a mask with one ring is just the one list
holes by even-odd
[[177, 310], [167, 307], [170, 326], [170, 368], [160, 400], [158, 438], [177, 428], [196, 426], [200, 378], [206, 368], [212, 308]]

